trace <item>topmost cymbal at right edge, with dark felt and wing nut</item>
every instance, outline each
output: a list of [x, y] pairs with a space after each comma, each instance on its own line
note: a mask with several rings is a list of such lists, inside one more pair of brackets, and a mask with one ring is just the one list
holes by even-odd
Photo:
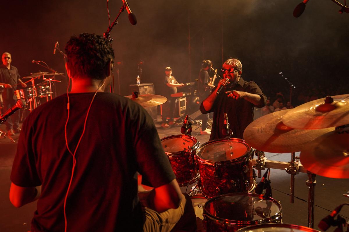
[[285, 115], [282, 122], [295, 129], [321, 129], [349, 124], [349, 94], [332, 96], [304, 103]]

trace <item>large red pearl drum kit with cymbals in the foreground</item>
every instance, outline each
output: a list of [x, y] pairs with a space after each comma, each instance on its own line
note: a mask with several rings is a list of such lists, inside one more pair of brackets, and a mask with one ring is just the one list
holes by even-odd
[[[139, 97], [134, 95], [133, 100], [144, 107], [166, 101], [159, 95]], [[328, 96], [260, 117], [247, 126], [244, 140], [216, 139], [200, 146], [198, 139], [185, 134], [162, 138], [161, 143], [179, 185], [197, 183], [189, 195], [196, 216], [203, 222], [202, 231], [316, 231], [311, 229], [315, 176], [349, 178], [348, 126], [349, 94]], [[300, 157], [296, 157], [299, 151]], [[291, 153], [291, 161], [267, 160], [264, 152]], [[265, 168], [290, 174], [291, 203], [294, 176], [299, 172], [308, 174], [308, 227], [281, 224], [280, 203], [252, 193], [256, 177], [253, 168], [258, 177]]]

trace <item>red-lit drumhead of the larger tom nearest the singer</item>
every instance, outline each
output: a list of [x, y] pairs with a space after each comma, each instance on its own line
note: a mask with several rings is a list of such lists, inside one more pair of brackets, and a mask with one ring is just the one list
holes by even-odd
[[242, 157], [251, 147], [242, 139], [227, 139], [211, 141], [203, 144], [196, 152], [198, 157], [210, 161], [226, 161]]

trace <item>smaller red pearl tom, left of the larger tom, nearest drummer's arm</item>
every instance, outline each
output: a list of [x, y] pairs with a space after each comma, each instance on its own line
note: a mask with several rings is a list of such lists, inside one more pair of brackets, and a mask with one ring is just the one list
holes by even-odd
[[199, 172], [194, 154], [200, 142], [190, 135], [171, 135], [161, 139], [162, 147], [168, 156], [180, 187], [196, 182]]

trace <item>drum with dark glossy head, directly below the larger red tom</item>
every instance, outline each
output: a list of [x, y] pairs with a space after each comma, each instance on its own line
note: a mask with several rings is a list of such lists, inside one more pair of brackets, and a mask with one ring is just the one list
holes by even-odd
[[258, 194], [225, 194], [206, 202], [203, 218], [207, 232], [234, 232], [249, 225], [282, 223], [281, 204]]

